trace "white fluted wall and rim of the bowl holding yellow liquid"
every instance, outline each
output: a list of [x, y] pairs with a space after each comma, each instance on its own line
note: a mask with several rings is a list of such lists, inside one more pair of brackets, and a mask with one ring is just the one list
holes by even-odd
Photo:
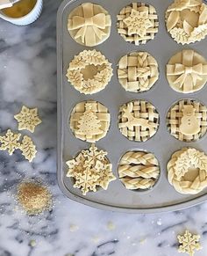
[[37, 0], [36, 4], [34, 5], [32, 11], [20, 18], [11, 18], [4, 14], [3, 11], [0, 11], [0, 18], [3, 18], [6, 21], [11, 22], [14, 25], [18, 26], [25, 26], [29, 25], [34, 22], [36, 19], [39, 18], [43, 8], [43, 0]]

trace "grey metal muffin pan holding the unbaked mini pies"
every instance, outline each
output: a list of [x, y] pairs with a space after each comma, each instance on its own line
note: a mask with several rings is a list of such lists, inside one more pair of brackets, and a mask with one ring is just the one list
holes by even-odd
[[[69, 62], [74, 55], [79, 54], [85, 47], [73, 40], [67, 29], [68, 14], [76, 6], [82, 4], [81, 0], [65, 0], [58, 11], [57, 17], [57, 72], [58, 72], [58, 182], [61, 190], [68, 198], [84, 203], [86, 205], [123, 211], [131, 213], [155, 213], [161, 211], [177, 210], [196, 205], [207, 200], [207, 190], [196, 195], [178, 194], [175, 188], [168, 183], [167, 164], [171, 155], [182, 147], [195, 147], [197, 150], [207, 152], [207, 135], [196, 143], [182, 143], [168, 133], [166, 126], [166, 116], [170, 106], [179, 99], [196, 99], [207, 105], [207, 86], [201, 91], [191, 94], [182, 94], [170, 88], [166, 78], [166, 64], [172, 55], [175, 55], [183, 48], [193, 48], [207, 58], [207, 39], [201, 42], [184, 46], [178, 45], [169, 35], [165, 27], [165, 11], [171, 0], [147, 0], [146, 4], [152, 4], [158, 13], [160, 26], [159, 33], [154, 40], [150, 40], [146, 45], [135, 46], [125, 42], [117, 32], [117, 14], [127, 4], [128, 0], [94, 0], [95, 4], [101, 4], [111, 14], [112, 27], [111, 37], [96, 46], [112, 63], [114, 76], [110, 84], [103, 91], [91, 96], [83, 95], [71, 86], [66, 77]], [[153, 89], [142, 93], [126, 92], [118, 83], [117, 64], [119, 59], [132, 51], [146, 51], [157, 60], [160, 69], [160, 78], [153, 86]], [[80, 101], [94, 99], [104, 106], [107, 106], [111, 113], [111, 128], [108, 134], [96, 146], [106, 150], [113, 165], [113, 173], [118, 177], [118, 162], [128, 150], [147, 150], [153, 152], [161, 165], [161, 177], [153, 187], [147, 192], [136, 192], [125, 189], [118, 179], [112, 181], [108, 190], [100, 190], [96, 193], [88, 193], [83, 196], [81, 191], [74, 188], [71, 179], [66, 177], [66, 161], [82, 149], [88, 149], [89, 143], [84, 143], [75, 138], [75, 135], [68, 128], [68, 118], [73, 107]], [[146, 143], [136, 143], [127, 140], [118, 130], [118, 109], [119, 106], [132, 99], [146, 99], [156, 107], [160, 113], [160, 128], [153, 138]]]

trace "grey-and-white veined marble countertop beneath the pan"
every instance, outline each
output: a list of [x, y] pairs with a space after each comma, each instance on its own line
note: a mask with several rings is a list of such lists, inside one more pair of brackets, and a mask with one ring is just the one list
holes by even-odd
[[[176, 235], [201, 235], [207, 255], [207, 203], [174, 213], [127, 215], [68, 200], [56, 180], [56, 11], [61, 0], [45, 1], [31, 26], [0, 23], [1, 131], [17, 130], [14, 113], [38, 106], [43, 123], [35, 131], [38, 155], [32, 164], [20, 154], [0, 153], [0, 256], [175, 256]], [[29, 218], [12, 194], [19, 180], [38, 176], [54, 194], [54, 210]], [[36, 245], [32, 246], [31, 241]], [[181, 254], [182, 255], [182, 254]], [[183, 254], [184, 255], [184, 254]]]

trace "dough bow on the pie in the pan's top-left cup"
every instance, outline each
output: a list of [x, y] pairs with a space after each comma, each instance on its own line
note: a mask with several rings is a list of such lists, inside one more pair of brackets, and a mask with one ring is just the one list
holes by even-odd
[[77, 30], [75, 39], [81, 38], [86, 46], [96, 45], [96, 38], [102, 40], [107, 35], [104, 30], [111, 26], [111, 17], [103, 12], [94, 15], [94, 4], [86, 3], [80, 6], [82, 16], [75, 15], [68, 19], [68, 29]]

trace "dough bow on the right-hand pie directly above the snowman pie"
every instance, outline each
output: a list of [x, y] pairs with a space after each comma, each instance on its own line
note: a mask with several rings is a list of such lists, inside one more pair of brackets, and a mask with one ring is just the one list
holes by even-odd
[[168, 64], [167, 76], [177, 77], [174, 84], [178, 84], [183, 91], [189, 91], [196, 86], [197, 80], [203, 80], [207, 75], [207, 65], [203, 63], [193, 64], [194, 52], [182, 51], [182, 63]]

